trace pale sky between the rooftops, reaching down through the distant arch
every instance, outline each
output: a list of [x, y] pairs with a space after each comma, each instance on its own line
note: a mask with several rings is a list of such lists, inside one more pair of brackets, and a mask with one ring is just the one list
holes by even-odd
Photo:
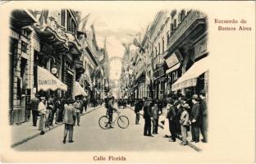
[[[162, 9], [154, 6], [147, 7], [144, 4], [146, 3], [121, 2], [117, 5], [116, 2], [109, 2], [106, 5], [97, 5], [92, 2], [81, 10], [81, 19], [90, 13], [85, 30], [94, 24], [98, 46], [103, 48], [106, 37], [109, 58], [122, 57], [125, 52], [122, 43], [132, 43], [133, 39], [139, 39], [138, 36], [130, 35], [139, 32], [144, 34], [157, 11]], [[130, 49], [135, 49], [135, 46], [132, 45]], [[111, 62], [110, 79], [119, 79], [120, 75], [121, 62]]]

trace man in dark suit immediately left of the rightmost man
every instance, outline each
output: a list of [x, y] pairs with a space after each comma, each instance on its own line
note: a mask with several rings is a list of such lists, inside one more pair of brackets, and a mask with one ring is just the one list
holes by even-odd
[[191, 122], [191, 133], [192, 140], [191, 142], [198, 143], [199, 142], [199, 125], [200, 125], [200, 117], [199, 117], [199, 97], [197, 94], [192, 96], [193, 107], [190, 114], [190, 122]]

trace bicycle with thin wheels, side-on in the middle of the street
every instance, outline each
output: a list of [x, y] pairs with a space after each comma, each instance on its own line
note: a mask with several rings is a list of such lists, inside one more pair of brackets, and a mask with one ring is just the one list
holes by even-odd
[[[127, 116], [120, 116], [121, 112], [117, 112], [117, 117], [115, 119], [115, 121], [112, 121], [112, 124], [115, 124], [115, 122], [117, 121], [117, 125], [121, 128], [121, 129], [126, 129], [128, 127], [128, 125], [130, 124], [129, 119]], [[110, 128], [110, 123], [109, 123], [109, 118], [108, 116], [101, 116], [98, 119], [98, 125], [100, 128], [102, 128], [103, 130], [107, 130]]]

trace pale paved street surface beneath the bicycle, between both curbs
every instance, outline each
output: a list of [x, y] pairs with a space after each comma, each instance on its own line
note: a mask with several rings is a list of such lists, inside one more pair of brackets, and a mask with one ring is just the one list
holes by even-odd
[[[102, 130], [98, 126], [98, 118], [106, 112], [105, 107], [100, 107], [81, 117], [80, 126], [75, 126], [75, 143], [62, 144], [63, 128], [57, 127], [48, 133], [29, 140], [16, 147], [18, 151], [179, 151], [194, 152], [189, 146], [181, 146], [180, 140], [176, 143], [168, 142], [162, 136], [162, 130], [154, 137], [144, 137], [144, 120], [135, 125], [135, 115], [130, 108], [120, 109], [121, 115], [128, 116], [130, 125], [122, 130], [115, 125], [114, 129]], [[116, 115], [115, 115], [116, 116]], [[116, 117], [113, 118], [116, 118]], [[49, 142], [50, 141], [50, 142]]]

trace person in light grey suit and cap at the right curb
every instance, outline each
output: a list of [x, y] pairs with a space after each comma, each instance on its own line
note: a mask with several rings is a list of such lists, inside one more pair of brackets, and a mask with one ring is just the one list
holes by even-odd
[[189, 104], [185, 103], [182, 105], [182, 112], [181, 112], [181, 118], [180, 118], [180, 124], [181, 124], [181, 136], [182, 136], [182, 142], [181, 145], [187, 145], [187, 130], [189, 128], [189, 120], [190, 120], [190, 115], [189, 112], [187, 111], [190, 109]]

